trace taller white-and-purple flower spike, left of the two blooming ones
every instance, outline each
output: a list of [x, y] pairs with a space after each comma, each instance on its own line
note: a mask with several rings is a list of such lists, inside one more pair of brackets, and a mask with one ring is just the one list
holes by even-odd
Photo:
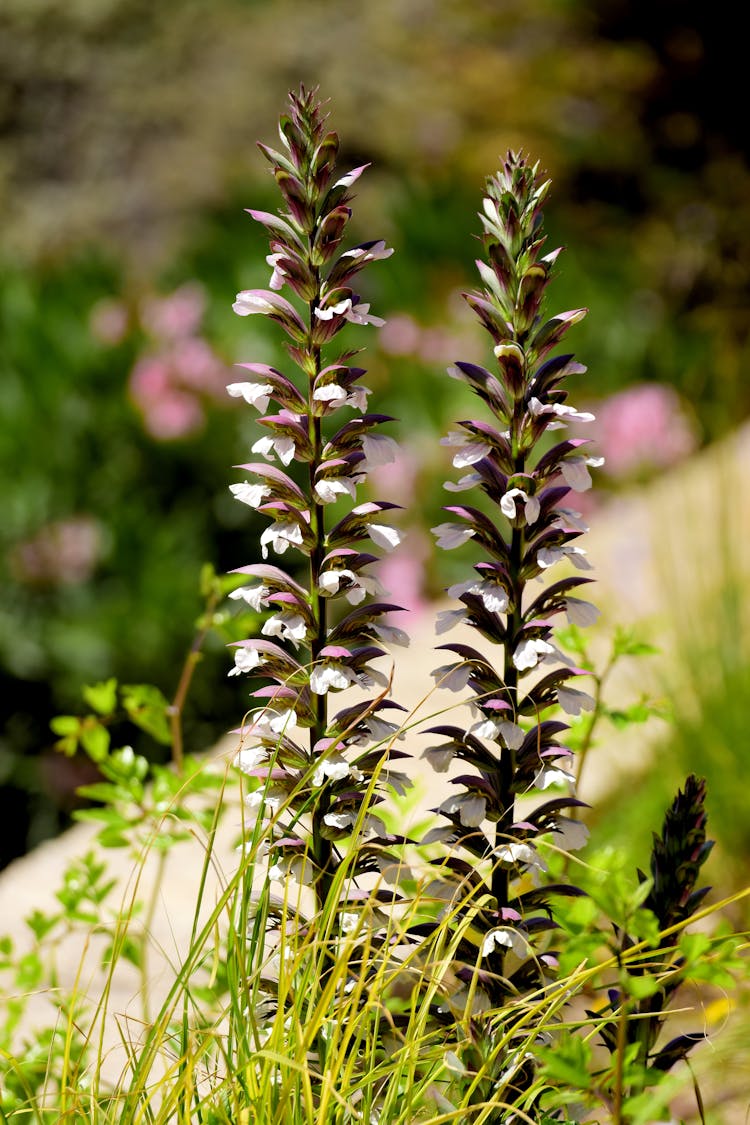
[[[342, 249], [350, 188], [364, 169], [336, 174], [338, 140], [326, 130], [315, 93], [301, 89], [290, 96], [279, 134], [279, 150], [260, 148], [284, 208], [279, 214], [250, 210], [270, 237], [269, 289], [237, 294], [234, 310], [275, 321], [300, 376], [292, 379], [264, 363], [240, 364], [243, 377], [228, 393], [263, 415], [264, 432], [252, 447], [257, 458], [240, 466], [247, 476], [232, 492], [269, 518], [260, 543], [263, 559], [301, 552], [307, 583], [270, 561], [235, 572], [250, 580], [232, 596], [269, 616], [261, 638], [235, 646], [231, 675], [249, 672], [269, 681], [254, 693], [257, 709], [244, 731], [237, 765], [260, 785], [251, 794], [252, 807], [277, 818], [271, 874], [309, 871], [323, 907], [335, 842], [351, 835], [382, 756], [372, 744], [382, 740], [382, 729], [388, 740], [396, 729], [377, 718], [392, 705], [385, 690], [356, 708], [328, 714], [329, 696], [351, 685], [387, 687], [372, 662], [383, 655], [383, 640], [395, 632], [403, 636], [381, 623], [399, 608], [368, 601], [382, 594], [369, 573], [377, 555], [359, 546], [369, 539], [390, 550], [399, 540], [386, 515], [395, 505], [356, 504], [356, 488], [371, 465], [392, 457], [391, 440], [373, 433], [389, 418], [367, 413], [365, 372], [350, 366], [352, 353], [327, 354], [347, 323], [382, 323], [352, 286], [360, 270], [391, 251], [379, 241]], [[265, 414], [271, 402], [278, 413]], [[342, 411], [354, 411], [354, 416], [342, 418]], [[337, 508], [342, 500], [353, 502], [350, 511], [328, 515], [328, 507]], [[336, 601], [347, 609], [332, 623], [328, 605]], [[307, 745], [300, 741], [305, 729]], [[379, 831], [377, 818], [371, 826]]]

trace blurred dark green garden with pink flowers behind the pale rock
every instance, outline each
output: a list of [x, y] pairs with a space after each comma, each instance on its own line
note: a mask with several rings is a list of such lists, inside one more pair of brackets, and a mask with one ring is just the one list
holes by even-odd
[[[439, 376], [481, 346], [460, 291], [508, 147], [554, 181], [550, 238], [571, 248], [555, 307], [590, 308], [575, 346], [582, 397], [609, 399], [605, 487], [748, 416], [750, 133], [723, 7], [3, 0], [0, 862], [70, 809], [82, 767], [52, 752], [51, 716], [108, 676], [171, 695], [201, 565], [254, 556], [227, 492], [246, 412], [223, 387], [232, 362], [281, 354], [231, 302], [266, 281], [242, 208], [277, 206], [255, 141], [273, 141], [300, 81], [331, 99], [342, 163], [372, 162], [354, 236], [397, 253], [367, 281], [388, 325], [365, 363], [427, 525], [455, 394]], [[421, 580], [417, 594], [441, 587], [430, 568]], [[236, 719], [225, 675], [209, 644], [198, 747]]]

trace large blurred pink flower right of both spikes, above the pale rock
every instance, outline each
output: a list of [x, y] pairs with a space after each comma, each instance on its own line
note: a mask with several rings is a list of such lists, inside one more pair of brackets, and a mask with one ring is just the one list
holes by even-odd
[[641, 384], [605, 399], [596, 412], [594, 436], [612, 477], [667, 468], [696, 448], [696, 433], [672, 387]]

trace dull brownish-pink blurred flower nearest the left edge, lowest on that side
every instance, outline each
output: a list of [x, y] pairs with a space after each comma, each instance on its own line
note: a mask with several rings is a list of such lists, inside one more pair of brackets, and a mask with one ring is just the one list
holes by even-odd
[[88, 582], [101, 558], [101, 524], [91, 515], [74, 515], [40, 528], [18, 543], [11, 566], [19, 582], [35, 586], [78, 586]]

